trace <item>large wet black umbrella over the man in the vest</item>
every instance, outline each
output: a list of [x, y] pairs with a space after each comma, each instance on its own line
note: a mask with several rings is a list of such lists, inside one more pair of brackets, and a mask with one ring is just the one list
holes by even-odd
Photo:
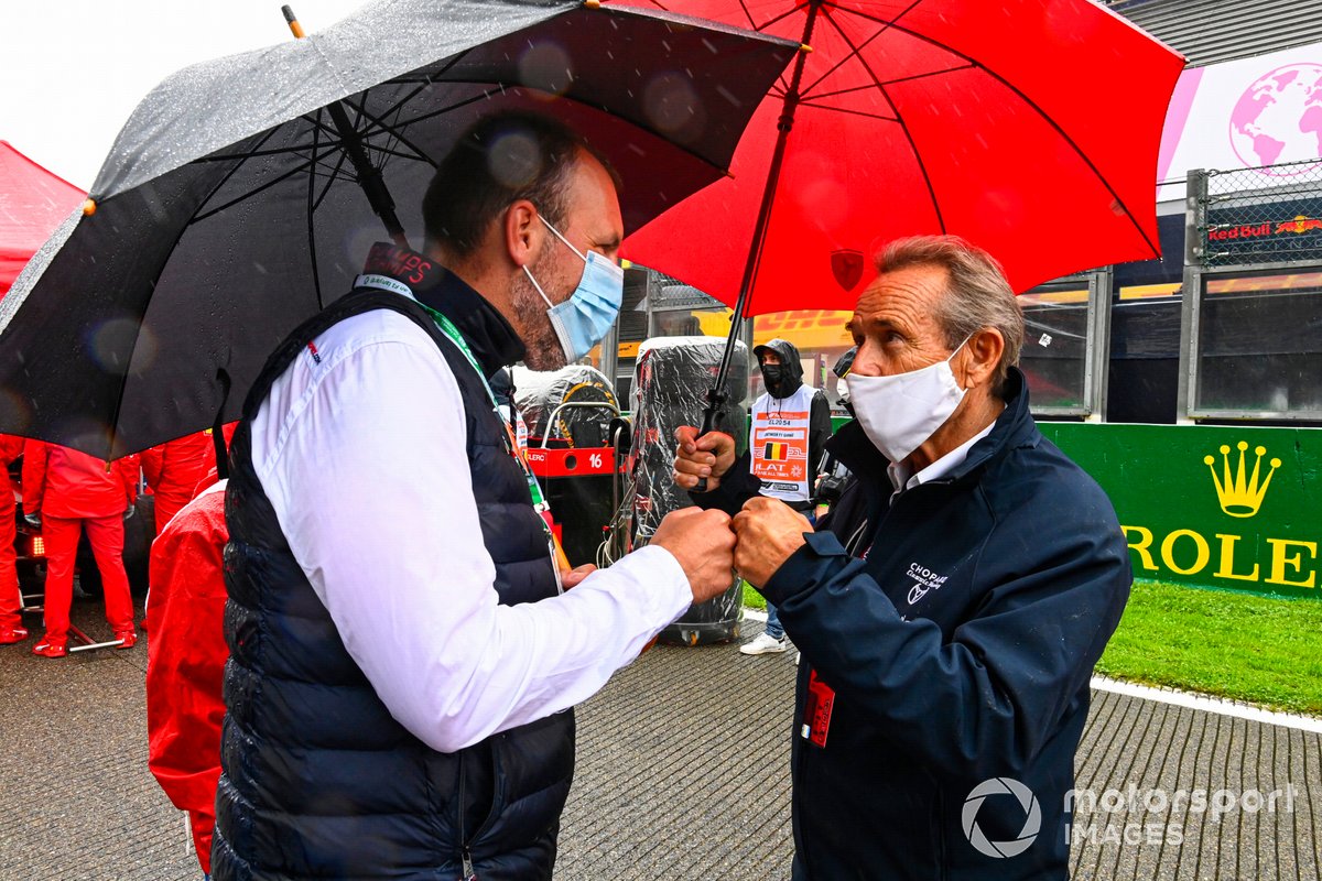
[[188, 67], [0, 301], [0, 431], [118, 457], [237, 417], [267, 354], [383, 238], [382, 194], [419, 243], [435, 162], [498, 110], [586, 135], [637, 229], [726, 173], [796, 50], [594, 0], [385, 0]]

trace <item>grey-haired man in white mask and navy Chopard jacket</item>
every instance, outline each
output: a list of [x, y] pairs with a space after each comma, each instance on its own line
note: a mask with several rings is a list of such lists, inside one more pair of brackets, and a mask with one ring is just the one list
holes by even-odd
[[1125, 536], [1032, 420], [997, 262], [917, 236], [876, 268], [850, 321], [857, 419], [830, 441], [853, 477], [816, 530], [755, 494], [728, 435], [676, 432], [676, 482], [705, 477], [694, 501], [739, 511], [736, 569], [805, 662], [793, 878], [1064, 881]]

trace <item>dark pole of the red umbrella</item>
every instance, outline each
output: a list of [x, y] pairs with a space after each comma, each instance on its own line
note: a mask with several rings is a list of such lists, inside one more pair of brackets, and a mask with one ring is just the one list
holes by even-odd
[[[780, 119], [776, 120], [776, 147], [771, 155], [771, 168], [767, 169], [767, 186], [761, 193], [761, 205], [758, 207], [758, 222], [754, 225], [752, 242], [748, 247], [748, 262], [744, 264], [743, 281], [739, 285], [739, 299], [730, 316], [730, 335], [726, 337], [726, 350], [720, 355], [720, 367], [717, 371], [715, 384], [707, 390], [707, 405], [702, 409], [701, 435], [715, 431], [717, 423], [726, 413], [726, 404], [730, 394], [726, 391], [726, 378], [730, 374], [730, 363], [734, 361], [735, 341], [739, 338], [739, 328], [747, 317], [748, 299], [752, 296], [752, 285], [758, 277], [758, 264], [761, 262], [761, 248], [767, 242], [767, 229], [771, 225], [771, 209], [776, 201], [776, 186], [780, 184], [780, 169], [785, 161], [785, 148], [789, 143], [789, 131], [795, 127], [795, 111], [798, 108], [798, 86], [804, 77], [804, 63], [808, 53], [812, 52], [809, 41], [813, 36], [813, 26], [817, 24], [817, 13], [825, 0], [809, 0], [808, 20], [804, 22], [804, 37], [798, 44], [798, 57], [795, 58], [795, 73], [781, 104]], [[698, 478], [694, 493], [706, 493], [706, 478]]]

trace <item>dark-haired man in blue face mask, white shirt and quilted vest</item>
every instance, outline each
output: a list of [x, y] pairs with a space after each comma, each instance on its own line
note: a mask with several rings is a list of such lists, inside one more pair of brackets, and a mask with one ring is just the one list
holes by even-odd
[[570, 708], [728, 586], [730, 518], [695, 509], [559, 572], [488, 384], [615, 320], [608, 165], [550, 120], [488, 119], [423, 215], [424, 252], [375, 246], [234, 436], [219, 880], [550, 878]]

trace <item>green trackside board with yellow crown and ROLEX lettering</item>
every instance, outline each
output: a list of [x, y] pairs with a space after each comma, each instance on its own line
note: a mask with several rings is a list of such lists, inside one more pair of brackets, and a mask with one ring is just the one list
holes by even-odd
[[1107, 490], [1134, 577], [1322, 598], [1322, 429], [1039, 427]]

